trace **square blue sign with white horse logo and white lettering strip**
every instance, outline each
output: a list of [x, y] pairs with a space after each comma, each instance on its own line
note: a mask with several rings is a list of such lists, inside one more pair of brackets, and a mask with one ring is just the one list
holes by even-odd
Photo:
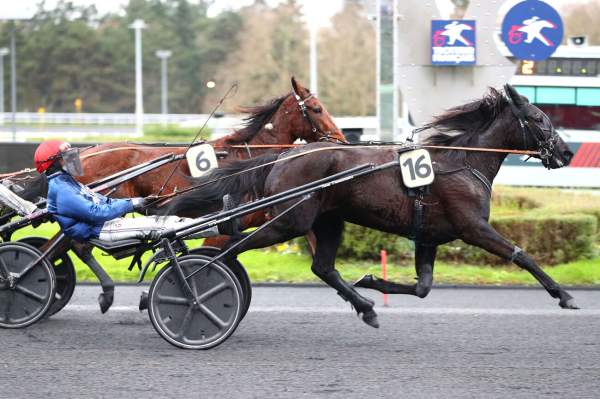
[[432, 20], [431, 64], [474, 65], [475, 21]]

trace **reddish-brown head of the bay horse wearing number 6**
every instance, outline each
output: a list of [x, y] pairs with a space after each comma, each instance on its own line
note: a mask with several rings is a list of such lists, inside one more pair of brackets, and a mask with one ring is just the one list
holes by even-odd
[[[333, 118], [310, 91], [292, 77], [292, 93], [282, 102], [267, 128], [287, 129], [297, 139], [307, 142], [347, 143]], [[286, 127], [287, 125], [287, 127]]]

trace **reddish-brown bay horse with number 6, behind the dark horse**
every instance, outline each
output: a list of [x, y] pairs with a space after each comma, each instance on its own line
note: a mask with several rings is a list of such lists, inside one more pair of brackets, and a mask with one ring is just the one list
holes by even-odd
[[[282, 152], [297, 140], [308, 143], [315, 141], [346, 143], [341, 130], [319, 99], [294, 77], [291, 78], [291, 85], [290, 93], [277, 97], [265, 105], [242, 107], [242, 112], [250, 114], [245, 118], [245, 126], [232, 134], [208, 142], [216, 151], [227, 151], [226, 157], [219, 160], [221, 165], [266, 152]], [[272, 147], [253, 148], [261, 145]], [[278, 147], [279, 145], [281, 147]], [[83, 184], [89, 184], [161, 155], [183, 154], [186, 149], [187, 146], [183, 145], [151, 146], [123, 142], [100, 144], [82, 151], [84, 175], [77, 179]], [[172, 170], [173, 164], [167, 164], [125, 182], [112, 194], [112, 197], [147, 197], [158, 193], [165, 182], [167, 184], [164, 193], [171, 193], [194, 183], [187, 162], [179, 162], [175, 173], [167, 182]], [[26, 196], [17, 194], [23, 198], [32, 200], [36, 197], [46, 197], [47, 183], [44, 176], [34, 173], [31, 180], [24, 181], [22, 185], [25, 187], [23, 195]], [[179, 216], [200, 215], [195, 212], [182, 212]], [[242, 228], [260, 226], [263, 222], [264, 214], [257, 212], [243, 218]], [[205, 241], [205, 244], [221, 247], [226, 241], [225, 237], [211, 237]]]

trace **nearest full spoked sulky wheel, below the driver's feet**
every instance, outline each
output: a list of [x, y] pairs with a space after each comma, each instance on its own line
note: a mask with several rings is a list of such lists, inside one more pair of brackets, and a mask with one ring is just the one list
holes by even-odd
[[239, 281], [220, 262], [188, 255], [178, 258], [194, 298], [186, 295], [173, 266], [164, 267], [150, 285], [148, 314], [156, 331], [169, 343], [184, 349], [210, 349], [224, 342], [237, 328], [243, 308]]

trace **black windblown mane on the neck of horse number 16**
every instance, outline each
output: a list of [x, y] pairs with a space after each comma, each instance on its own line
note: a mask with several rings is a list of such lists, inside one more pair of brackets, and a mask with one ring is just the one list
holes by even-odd
[[502, 93], [490, 87], [483, 98], [450, 108], [436, 116], [427, 125], [436, 132], [424, 139], [423, 143], [470, 147], [478, 135], [490, 127], [506, 104]]

